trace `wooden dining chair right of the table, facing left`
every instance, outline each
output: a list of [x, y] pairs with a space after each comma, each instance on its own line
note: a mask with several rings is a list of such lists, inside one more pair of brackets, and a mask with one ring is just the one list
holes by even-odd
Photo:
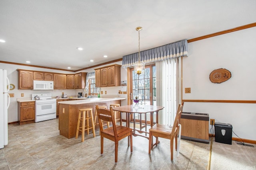
[[183, 105], [184, 105], [184, 102], [182, 102], [182, 105], [179, 104], [178, 106], [173, 126], [161, 125], [156, 123], [153, 127], [149, 129], [148, 154], [150, 154], [152, 149], [151, 148], [152, 136], [156, 137], [156, 146], [158, 143], [158, 137], [162, 137], [165, 139], [170, 139], [171, 160], [173, 160], [173, 142], [175, 138], [175, 150], [177, 150], [178, 134], [179, 134], [178, 124], [182, 114]]

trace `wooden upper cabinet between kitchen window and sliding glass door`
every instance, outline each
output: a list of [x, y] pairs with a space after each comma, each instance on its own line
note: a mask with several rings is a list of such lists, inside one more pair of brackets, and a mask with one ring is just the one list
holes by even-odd
[[121, 86], [121, 65], [95, 69], [96, 87]]

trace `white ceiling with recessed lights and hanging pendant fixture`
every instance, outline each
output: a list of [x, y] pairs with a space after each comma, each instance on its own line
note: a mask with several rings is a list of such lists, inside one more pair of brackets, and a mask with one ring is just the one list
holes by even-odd
[[138, 26], [143, 51], [254, 23], [255, 7], [255, 0], [0, 0], [0, 61], [79, 70], [138, 52]]

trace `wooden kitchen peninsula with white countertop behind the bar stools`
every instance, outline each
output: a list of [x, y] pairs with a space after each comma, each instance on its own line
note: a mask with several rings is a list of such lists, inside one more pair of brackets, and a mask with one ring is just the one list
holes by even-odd
[[[76, 126], [78, 121], [79, 109], [92, 108], [93, 116], [95, 117], [95, 106], [107, 106], [110, 104], [120, 104], [121, 100], [126, 98], [89, 98], [82, 100], [71, 100], [58, 102], [59, 106], [59, 130], [60, 135], [70, 139], [76, 136]], [[98, 122], [98, 120], [96, 121]], [[89, 123], [90, 124], [90, 123]], [[90, 124], [91, 126], [91, 124]], [[96, 126], [96, 129], [99, 127]]]

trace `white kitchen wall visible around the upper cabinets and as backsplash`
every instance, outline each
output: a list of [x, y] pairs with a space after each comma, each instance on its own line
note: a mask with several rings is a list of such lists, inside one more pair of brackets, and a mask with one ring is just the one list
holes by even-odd
[[[116, 62], [113, 64], [120, 64], [122, 65], [122, 61]], [[108, 64], [110, 65], [110, 64]], [[101, 66], [100, 66], [101, 67]], [[67, 94], [67, 96], [77, 96], [78, 92], [84, 92], [84, 89], [56, 89], [56, 90], [18, 90], [18, 71], [17, 69], [23, 70], [38, 70], [38, 71], [46, 71], [46, 72], [57, 72], [57, 73], [64, 73], [64, 74], [74, 74], [74, 72], [69, 71], [62, 71], [62, 70], [54, 70], [54, 69], [45, 69], [45, 68], [38, 68], [38, 67], [31, 67], [31, 66], [22, 66], [22, 65], [15, 65], [15, 64], [5, 64], [0, 63], [0, 68], [7, 70], [7, 76], [10, 80], [10, 84], [14, 84], [15, 89], [10, 90], [9, 93], [14, 93], [14, 98], [10, 98], [10, 107], [8, 108], [8, 123], [18, 121], [18, 102], [17, 98], [31, 98], [31, 94], [34, 93], [51, 93], [53, 97], [61, 96], [62, 92]], [[93, 72], [94, 68], [82, 70], [79, 72]], [[127, 80], [127, 69], [121, 67], [121, 80]], [[118, 90], [121, 90], [121, 86], [117, 87], [106, 87], [102, 88], [102, 90], [107, 91], [107, 95], [118, 96]], [[21, 97], [21, 93], [24, 93], [24, 97]], [[106, 95], [102, 95], [102, 97]], [[127, 98], [126, 94], [119, 95], [120, 97]], [[127, 100], [122, 100], [122, 105], [127, 104]]]

